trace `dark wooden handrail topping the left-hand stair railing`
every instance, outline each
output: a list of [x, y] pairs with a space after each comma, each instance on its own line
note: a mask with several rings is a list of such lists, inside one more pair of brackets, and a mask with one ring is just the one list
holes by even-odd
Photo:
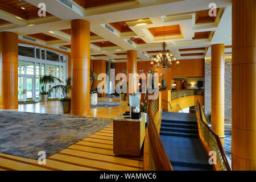
[[[173, 171], [174, 169], [171, 166], [170, 160], [164, 150], [163, 143], [159, 137], [159, 131], [156, 129], [154, 116], [152, 115], [153, 104], [155, 104], [156, 100], [151, 100], [148, 104], [148, 121], [147, 121], [147, 133], [148, 133], [148, 153], [151, 157], [150, 160], [150, 170], [156, 171]], [[159, 107], [158, 107], [159, 108]], [[160, 112], [162, 114], [162, 110], [157, 110], [155, 114]], [[144, 148], [146, 149], [146, 147]], [[147, 152], [147, 151], [146, 151]], [[145, 151], [144, 151], [145, 154]]]

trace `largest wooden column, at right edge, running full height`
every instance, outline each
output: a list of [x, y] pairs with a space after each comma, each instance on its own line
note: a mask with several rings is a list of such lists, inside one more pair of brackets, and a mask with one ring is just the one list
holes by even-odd
[[256, 170], [256, 1], [233, 0], [232, 168]]

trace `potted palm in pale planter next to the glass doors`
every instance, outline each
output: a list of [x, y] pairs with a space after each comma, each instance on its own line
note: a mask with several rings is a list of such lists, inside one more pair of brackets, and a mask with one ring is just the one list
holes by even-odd
[[48, 101], [49, 92], [46, 91], [46, 86], [49, 83], [53, 84], [56, 80], [61, 82], [61, 80], [59, 78], [56, 78], [52, 75], [44, 75], [44, 76], [40, 77], [40, 84], [43, 85], [42, 86], [42, 92], [40, 92], [41, 101], [43, 101], [43, 102]]

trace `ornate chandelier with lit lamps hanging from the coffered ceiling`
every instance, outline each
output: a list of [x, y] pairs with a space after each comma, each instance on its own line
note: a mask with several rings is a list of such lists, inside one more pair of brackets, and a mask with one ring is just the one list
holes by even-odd
[[164, 31], [164, 42], [162, 43], [162, 51], [156, 55], [154, 61], [151, 61], [153, 67], [162, 69], [162, 71], [171, 71], [173, 69], [172, 64], [178, 66], [180, 64], [176, 57], [172, 55], [171, 51], [167, 49], [165, 42], [165, 31]]

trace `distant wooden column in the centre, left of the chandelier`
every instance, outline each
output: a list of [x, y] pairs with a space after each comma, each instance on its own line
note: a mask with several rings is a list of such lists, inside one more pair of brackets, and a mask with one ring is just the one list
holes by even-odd
[[127, 92], [137, 93], [137, 79], [129, 78], [129, 73], [137, 73], [137, 51], [134, 50], [127, 51]]

